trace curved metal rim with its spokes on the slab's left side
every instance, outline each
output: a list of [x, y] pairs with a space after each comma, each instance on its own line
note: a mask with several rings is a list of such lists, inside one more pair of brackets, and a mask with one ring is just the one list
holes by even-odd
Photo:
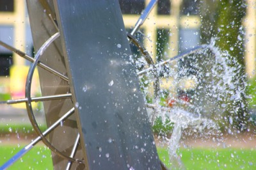
[[[33, 146], [35, 146], [36, 143], [38, 143], [39, 141], [42, 140], [47, 147], [49, 147], [52, 151], [54, 151], [54, 153], [56, 153], [56, 155], [68, 160], [67, 167], [70, 167], [71, 162], [84, 163], [84, 160], [81, 160], [79, 158], [74, 158], [74, 155], [77, 150], [77, 146], [79, 144], [79, 133], [77, 133], [76, 138], [74, 138], [74, 146], [73, 146], [71, 152], [70, 151], [60, 151], [58, 149], [58, 147], [53, 146], [52, 143], [46, 138], [47, 135], [51, 135], [53, 130], [56, 130], [57, 128], [61, 128], [63, 126], [63, 124], [65, 123], [65, 121], [68, 120], [68, 118], [70, 116], [72, 116], [72, 114], [74, 114], [74, 107], [70, 107], [70, 109], [65, 114], [63, 114], [63, 116], [60, 117], [60, 119], [51, 123], [49, 128], [47, 128], [47, 130], [45, 130], [45, 132], [42, 132], [40, 130], [38, 123], [36, 122], [35, 114], [33, 112], [33, 107], [31, 104], [31, 102], [47, 102], [47, 101], [52, 102], [52, 100], [58, 100], [58, 103], [60, 103], [60, 102], [65, 102], [65, 100], [70, 100], [70, 98], [72, 97], [71, 93], [58, 94], [58, 95], [47, 95], [47, 96], [43, 96], [43, 97], [31, 97], [31, 83], [32, 83], [32, 78], [33, 78], [33, 74], [35, 72], [36, 66], [40, 66], [42, 69], [51, 73], [55, 77], [59, 77], [63, 81], [68, 82], [68, 78], [65, 75], [61, 74], [60, 72], [54, 70], [53, 68], [51, 68], [39, 61], [41, 56], [43, 56], [45, 50], [47, 50], [47, 47], [52, 45], [52, 42], [54, 42], [54, 40], [56, 40], [59, 36], [60, 36], [60, 33], [55, 33], [54, 35], [52, 35], [51, 38], [49, 38], [49, 40], [47, 40], [44, 43], [44, 45], [42, 45], [42, 47], [40, 47], [40, 49], [38, 50], [38, 52], [35, 55], [35, 59], [31, 58], [27, 54], [24, 54], [23, 52], [20, 52], [17, 49], [14, 49], [13, 47], [6, 45], [5, 43], [1, 42], [1, 45], [3, 45], [4, 47], [6, 47], [10, 50], [13, 50], [13, 52], [16, 52], [23, 58], [26, 58], [29, 61], [32, 61], [31, 66], [29, 67], [28, 77], [26, 80], [26, 91], [25, 91], [26, 98], [17, 99], [17, 100], [8, 100], [6, 102], [2, 102], [2, 104], [17, 104], [17, 103], [25, 102], [26, 108], [28, 111], [29, 120], [31, 121], [31, 125], [33, 126], [36, 133], [38, 134], [38, 137], [32, 143], [28, 144], [28, 146], [26, 146], [23, 150], [21, 150], [16, 155], [16, 157], [14, 157], [15, 160], [17, 160], [17, 158], [19, 158], [21, 155], [24, 155], [24, 153], [28, 152], [31, 148], [33, 148]], [[62, 129], [61, 129], [61, 132], [63, 132]], [[64, 136], [65, 134], [62, 134], [62, 135]], [[6, 162], [6, 164], [3, 165], [3, 169], [10, 166], [11, 164], [13, 164], [13, 159]]]

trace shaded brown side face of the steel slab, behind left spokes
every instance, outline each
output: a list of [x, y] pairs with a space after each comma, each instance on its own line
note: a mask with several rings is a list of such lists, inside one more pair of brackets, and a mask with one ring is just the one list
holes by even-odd
[[[54, 1], [26, 0], [26, 2], [33, 45], [35, 47], [35, 52], [37, 52], [40, 47], [42, 47], [42, 44], [44, 44], [51, 35], [54, 35], [56, 30], [59, 30], [59, 23], [56, 20]], [[67, 66], [65, 58], [63, 58], [64, 52], [65, 51], [63, 51], [61, 47], [61, 39], [58, 38], [47, 48], [40, 58], [40, 62], [54, 68], [54, 70], [58, 70], [58, 72], [63, 73], [63, 75], [67, 75]], [[63, 81], [63, 79], [56, 77], [56, 75], [53, 75], [40, 67], [38, 67], [38, 75], [42, 96], [46, 97], [49, 95], [70, 93], [69, 82]], [[70, 81], [70, 79], [68, 79], [68, 81]], [[72, 100], [52, 100], [44, 102], [43, 104], [47, 127], [58, 120], [64, 112], [67, 112], [70, 108], [74, 107]], [[56, 128], [51, 135], [49, 135], [48, 140], [52, 146], [55, 146], [62, 153], [69, 156], [77, 137], [77, 133], [76, 114], [73, 114], [68, 120], [63, 122], [60, 128]], [[51, 151], [51, 155], [54, 169], [65, 169], [67, 167], [68, 160], [66, 158], [60, 157], [58, 154], [54, 153], [54, 151]], [[74, 158], [84, 159], [81, 145], [78, 146]], [[72, 164], [71, 169], [83, 169], [83, 164]]]

